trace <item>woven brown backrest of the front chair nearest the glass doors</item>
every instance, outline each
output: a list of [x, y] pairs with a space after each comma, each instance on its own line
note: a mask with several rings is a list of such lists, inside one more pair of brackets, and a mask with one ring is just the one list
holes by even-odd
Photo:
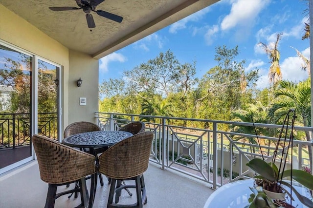
[[68, 147], [46, 136], [34, 134], [40, 178], [49, 184], [76, 181], [95, 172], [95, 156]]

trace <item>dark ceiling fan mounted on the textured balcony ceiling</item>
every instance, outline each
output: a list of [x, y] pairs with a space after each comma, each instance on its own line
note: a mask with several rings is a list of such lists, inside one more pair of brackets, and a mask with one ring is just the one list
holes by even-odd
[[77, 5], [79, 6], [79, 8], [65, 6], [65, 7], [49, 7], [49, 9], [51, 9], [52, 11], [68, 11], [68, 10], [83, 9], [83, 11], [86, 13], [86, 19], [87, 19], [87, 24], [88, 24], [89, 28], [96, 27], [94, 20], [93, 20], [93, 17], [90, 14], [90, 11], [93, 11], [102, 17], [112, 19], [113, 21], [116, 21], [116, 22], [122, 22], [122, 20], [123, 20], [122, 17], [120, 17], [118, 15], [114, 15], [110, 12], [106, 12], [103, 10], [96, 10], [97, 5], [102, 3], [104, 0], [75, 0], [75, 1], [76, 1]]

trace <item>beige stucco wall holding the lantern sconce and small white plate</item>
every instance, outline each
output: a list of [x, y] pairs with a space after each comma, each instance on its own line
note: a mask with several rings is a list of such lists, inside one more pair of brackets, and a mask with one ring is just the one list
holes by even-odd
[[[94, 112], [98, 111], [99, 61], [89, 55], [70, 50], [69, 68], [68, 123], [94, 122]], [[77, 87], [79, 78], [83, 80], [81, 87]], [[86, 97], [87, 105], [79, 104], [80, 97]]]

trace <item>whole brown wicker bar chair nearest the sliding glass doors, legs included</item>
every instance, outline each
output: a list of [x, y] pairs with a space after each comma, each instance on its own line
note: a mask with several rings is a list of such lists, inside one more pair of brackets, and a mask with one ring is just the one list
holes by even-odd
[[[32, 143], [37, 155], [40, 178], [48, 183], [45, 208], [53, 208], [57, 198], [75, 191], [72, 189], [57, 193], [58, 186], [74, 182], [79, 183], [82, 206], [88, 207], [85, 177], [96, 172], [95, 156], [38, 134], [32, 136]], [[91, 183], [95, 183], [94, 177]], [[93, 202], [93, 195], [90, 198]]]

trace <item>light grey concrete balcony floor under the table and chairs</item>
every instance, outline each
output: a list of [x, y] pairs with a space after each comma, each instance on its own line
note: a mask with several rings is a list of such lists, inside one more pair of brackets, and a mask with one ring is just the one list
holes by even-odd
[[[154, 163], [149, 164], [144, 173], [148, 203], [144, 208], [203, 208], [207, 198], [213, 193], [208, 184], [188, 178], [172, 170], [161, 170]], [[89, 187], [90, 180], [87, 180]], [[104, 177], [104, 186], [98, 181], [94, 208], [107, 207], [110, 185]], [[71, 185], [72, 188], [74, 184]], [[58, 192], [66, 189], [58, 188]], [[90, 187], [89, 187], [90, 188]], [[0, 175], [0, 208], [43, 208], [48, 185], [40, 179], [37, 161]], [[134, 190], [130, 189], [132, 192]], [[70, 199], [68, 195], [56, 200], [55, 208], [74, 208], [80, 204], [80, 197]], [[134, 202], [122, 190], [120, 202]]]

